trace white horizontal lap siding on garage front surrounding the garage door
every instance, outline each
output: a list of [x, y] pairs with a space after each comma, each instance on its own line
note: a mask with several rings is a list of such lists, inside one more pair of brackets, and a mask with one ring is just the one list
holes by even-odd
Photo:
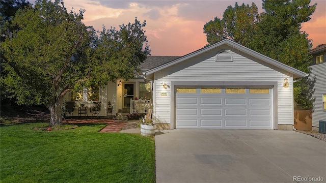
[[[217, 53], [217, 52], [216, 52]], [[171, 85], [171, 81], [277, 81], [278, 82], [278, 123], [292, 124], [293, 99], [292, 78], [287, 76], [289, 87], [283, 88], [285, 75], [232, 52], [233, 62], [215, 62], [215, 55], [205, 59], [200, 56], [176, 64], [155, 73], [154, 115], [159, 123], [170, 123], [171, 90], [161, 86], [161, 82]], [[161, 96], [167, 93], [167, 96]]]

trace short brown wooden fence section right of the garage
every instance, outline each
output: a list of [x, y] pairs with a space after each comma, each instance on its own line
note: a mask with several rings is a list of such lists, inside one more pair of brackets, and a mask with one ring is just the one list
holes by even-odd
[[311, 114], [311, 110], [294, 110], [294, 128], [296, 130], [312, 130]]

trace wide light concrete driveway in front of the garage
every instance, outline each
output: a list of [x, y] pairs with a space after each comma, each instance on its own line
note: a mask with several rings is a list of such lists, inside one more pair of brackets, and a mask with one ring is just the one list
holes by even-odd
[[326, 182], [326, 142], [294, 131], [167, 130], [155, 148], [157, 183]]

